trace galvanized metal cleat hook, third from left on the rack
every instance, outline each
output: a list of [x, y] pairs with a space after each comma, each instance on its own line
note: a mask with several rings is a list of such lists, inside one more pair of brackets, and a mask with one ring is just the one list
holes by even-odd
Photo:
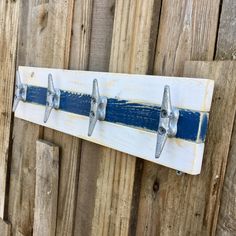
[[106, 117], [107, 98], [99, 94], [98, 81], [93, 80], [93, 91], [91, 98], [91, 108], [89, 113], [88, 136], [91, 136], [97, 120], [103, 121]]

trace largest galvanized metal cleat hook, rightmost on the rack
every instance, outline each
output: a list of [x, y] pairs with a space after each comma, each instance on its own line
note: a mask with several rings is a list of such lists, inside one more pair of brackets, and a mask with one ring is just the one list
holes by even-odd
[[160, 121], [157, 131], [156, 158], [160, 157], [167, 138], [174, 137], [176, 135], [178, 119], [179, 110], [172, 108], [170, 87], [166, 85], [162, 98]]

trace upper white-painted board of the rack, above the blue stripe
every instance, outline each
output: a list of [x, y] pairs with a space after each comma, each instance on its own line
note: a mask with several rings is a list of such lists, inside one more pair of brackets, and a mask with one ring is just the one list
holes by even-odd
[[161, 105], [165, 85], [171, 89], [172, 105], [195, 111], [209, 111], [214, 81], [150, 75], [130, 75], [61, 69], [19, 67], [23, 83], [47, 87], [48, 74], [61, 90], [91, 94], [96, 78], [101, 95], [133, 102]]

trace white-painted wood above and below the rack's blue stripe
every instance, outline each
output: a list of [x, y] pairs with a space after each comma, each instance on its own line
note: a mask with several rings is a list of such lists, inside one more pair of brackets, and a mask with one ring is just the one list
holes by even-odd
[[[98, 79], [101, 95], [109, 98], [160, 105], [163, 88], [171, 87], [173, 106], [208, 112], [214, 82], [207, 79], [111, 74], [60, 69], [20, 67], [23, 83], [47, 87], [48, 74], [53, 75], [55, 87], [62, 90], [91, 94], [92, 81]], [[128, 78], [127, 78], [128, 77]], [[199, 174], [204, 143], [168, 139], [162, 155], [155, 158], [156, 134], [109, 122], [97, 122], [92, 137], [87, 136], [89, 118], [63, 111], [52, 111], [43, 123], [45, 107], [20, 103], [15, 115], [21, 119], [47, 126], [185, 173]]]

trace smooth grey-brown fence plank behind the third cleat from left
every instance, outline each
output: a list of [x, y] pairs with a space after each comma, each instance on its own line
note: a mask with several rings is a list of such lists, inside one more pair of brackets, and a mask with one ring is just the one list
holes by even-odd
[[[109, 69], [114, 4], [115, 0], [94, 0], [89, 70]], [[101, 149], [99, 145], [82, 141], [74, 235], [91, 235], [96, 180], [102, 158], [97, 153]]]

